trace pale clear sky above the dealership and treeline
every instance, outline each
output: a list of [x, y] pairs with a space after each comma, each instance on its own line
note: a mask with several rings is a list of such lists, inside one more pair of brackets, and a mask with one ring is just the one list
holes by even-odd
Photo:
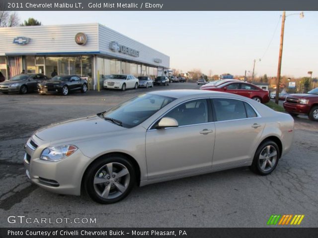
[[[286, 14], [300, 13], [287, 12]], [[170, 67], [203, 73], [277, 74], [278, 11], [19, 11], [43, 25], [100, 23], [168, 56]], [[282, 75], [318, 77], [318, 12], [286, 18]], [[276, 29], [276, 31], [275, 31]], [[272, 41], [271, 41], [272, 39]], [[271, 42], [271, 44], [270, 44]], [[261, 59], [261, 61], [258, 61]], [[248, 73], [248, 71], [250, 71]]]

